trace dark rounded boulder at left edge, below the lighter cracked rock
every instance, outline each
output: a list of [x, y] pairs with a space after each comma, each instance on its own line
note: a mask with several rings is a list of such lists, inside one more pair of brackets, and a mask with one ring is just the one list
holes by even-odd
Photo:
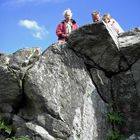
[[18, 79], [8, 66], [0, 65], [0, 104], [15, 105], [21, 95]]

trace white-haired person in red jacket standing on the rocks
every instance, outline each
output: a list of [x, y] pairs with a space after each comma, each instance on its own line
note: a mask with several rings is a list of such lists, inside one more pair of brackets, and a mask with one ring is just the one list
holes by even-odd
[[74, 19], [72, 19], [72, 12], [67, 9], [63, 12], [65, 20], [63, 20], [56, 29], [56, 35], [58, 40], [67, 41], [70, 33], [78, 28], [78, 25]]

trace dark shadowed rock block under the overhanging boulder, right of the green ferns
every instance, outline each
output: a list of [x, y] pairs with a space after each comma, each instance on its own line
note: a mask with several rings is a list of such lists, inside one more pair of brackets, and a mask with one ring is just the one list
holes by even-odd
[[112, 93], [118, 111], [124, 113], [122, 132], [130, 135], [132, 132], [140, 133], [139, 121], [139, 95], [136, 90], [136, 83], [132, 72], [122, 72], [111, 78]]

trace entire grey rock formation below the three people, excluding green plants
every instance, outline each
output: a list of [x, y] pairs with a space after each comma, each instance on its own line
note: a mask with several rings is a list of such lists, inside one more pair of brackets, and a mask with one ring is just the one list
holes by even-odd
[[139, 29], [116, 36], [101, 22], [80, 27], [67, 43], [43, 53], [0, 54], [0, 116], [14, 135], [32, 140], [105, 140], [113, 102], [125, 116], [121, 133], [137, 139], [139, 47]]

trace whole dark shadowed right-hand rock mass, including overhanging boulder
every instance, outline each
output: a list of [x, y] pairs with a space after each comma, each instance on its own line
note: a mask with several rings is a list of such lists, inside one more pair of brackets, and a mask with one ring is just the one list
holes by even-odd
[[84, 58], [102, 99], [124, 114], [123, 134], [140, 135], [140, 30], [115, 37], [101, 22], [79, 28], [68, 44]]

